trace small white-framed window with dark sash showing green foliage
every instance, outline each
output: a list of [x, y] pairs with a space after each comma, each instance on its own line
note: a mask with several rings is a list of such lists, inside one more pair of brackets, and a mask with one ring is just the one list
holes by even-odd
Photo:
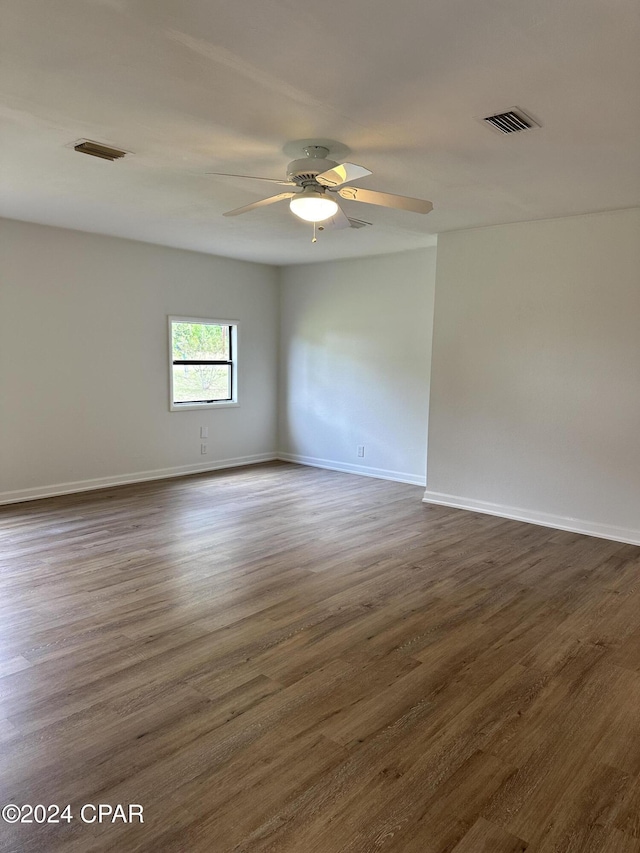
[[171, 410], [237, 405], [238, 324], [169, 317]]

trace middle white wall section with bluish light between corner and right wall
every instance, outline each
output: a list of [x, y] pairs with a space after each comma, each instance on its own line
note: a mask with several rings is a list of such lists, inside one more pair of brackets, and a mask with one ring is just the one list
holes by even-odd
[[282, 270], [282, 458], [424, 484], [434, 272], [435, 249]]

